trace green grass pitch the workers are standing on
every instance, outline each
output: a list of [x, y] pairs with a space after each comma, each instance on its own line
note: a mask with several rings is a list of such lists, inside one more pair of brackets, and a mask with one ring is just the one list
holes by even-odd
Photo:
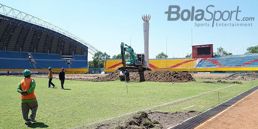
[[[65, 81], [64, 88], [71, 90], [61, 90], [59, 80], [53, 80], [57, 88], [47, 88], [48, 79], [34, 78], [39, 105], [36, 116], [38, 122], [27, 126], [21, 114], [21, 95], [16, 91], [21, 79], [23, 77], [0, 76], [0, 128], [74, 128], [147, 108], [162, 112], [203, 112], [219, 104], [218, 92], [222, 102], [252, 87], [251, 81], [232, 87], [228, 87], [232, 84], [200, 83], [205, 79], [189, 83], [127, 84], [120, 81]], [[258, 85], [258, 81], [253, 81], [255, 85]], [[227, 88], [199, 95], [223, 87]], [[173, 105], [158, 106], [194, 95], [198, 96]]]

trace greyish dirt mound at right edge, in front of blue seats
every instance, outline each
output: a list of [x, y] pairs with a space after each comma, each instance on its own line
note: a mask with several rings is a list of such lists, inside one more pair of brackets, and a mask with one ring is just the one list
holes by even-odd
[[224, 79], [227, 80], [256, 80], [258, 79], [258, 73], [234, 73]]

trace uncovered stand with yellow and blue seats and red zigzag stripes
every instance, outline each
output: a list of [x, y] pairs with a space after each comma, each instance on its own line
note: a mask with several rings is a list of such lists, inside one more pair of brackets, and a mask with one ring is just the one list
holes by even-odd
[[[167, 58], [150, 59], [152, 71], [193, 71], [209, 73], [250, 73], [258, 71], [258, 54], [230, 55], [215, 58]], [[112, 72], [122, 67], [121, 60], [105, 60], [104, 71]]]

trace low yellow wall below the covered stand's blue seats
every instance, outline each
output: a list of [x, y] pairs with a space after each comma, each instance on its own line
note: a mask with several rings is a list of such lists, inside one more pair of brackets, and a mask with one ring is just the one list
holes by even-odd
[[[29, 69], [30, 71], [48, 71], [48, 69]], [[0, 71], [24, 71], [24, 69], [0, 69]], [[52, 69], [54, 73], [59, 73], [61, 69]], [[89, 69], [64, 69], [66, 74], [81, 74], [89, 72]]]

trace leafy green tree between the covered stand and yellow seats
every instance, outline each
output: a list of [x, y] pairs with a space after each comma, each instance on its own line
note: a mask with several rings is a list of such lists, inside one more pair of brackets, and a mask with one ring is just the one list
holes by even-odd
[[89, 61], [89, 68], [103, 68], [103, 64], [105, 63], [105, 59], [110, 59], [110, 55], [106, 52], [96, 52], [92, 57], [93, 60]]

